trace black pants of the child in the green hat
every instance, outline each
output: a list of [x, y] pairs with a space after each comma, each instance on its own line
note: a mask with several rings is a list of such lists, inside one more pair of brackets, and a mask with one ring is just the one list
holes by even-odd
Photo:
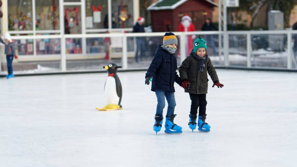
[[190, 94], [190, 99], [192, 100], [191, 103], [191, 111], [190, 114], [197, 114], [198, 107], [199, 107], [199, 116], [206, 114], [206, 94]]

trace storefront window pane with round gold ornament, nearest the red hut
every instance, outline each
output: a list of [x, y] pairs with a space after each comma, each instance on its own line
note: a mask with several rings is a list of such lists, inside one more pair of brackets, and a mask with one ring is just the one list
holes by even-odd
[[133, 27], [133, 0], [112, 0], [112, 28]]

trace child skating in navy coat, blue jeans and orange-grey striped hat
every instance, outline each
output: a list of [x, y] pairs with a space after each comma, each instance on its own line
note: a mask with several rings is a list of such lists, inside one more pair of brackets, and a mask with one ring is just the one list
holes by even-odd
[[163, 108], [165, 107], [165, 97], [168, 103], [168, 109], [165, 122], [165, 133], [182, 133], [182, 127], [174, 124], [174, 108], [176, 106], [174, 97], [174, 82], [181, 86], [181, 79], [176, 73], [177, 62], [173, 55], [176, 51], [177, 38], [169, 32], [163, 36], [163, 45], [159, 45], [154, 59], [146, 73], [145, 83], [149, 85], [152, 78], [151, 91], [156, 92], [157, 111], [155, 115], [154, 131], [159, 132], [162, 127]]

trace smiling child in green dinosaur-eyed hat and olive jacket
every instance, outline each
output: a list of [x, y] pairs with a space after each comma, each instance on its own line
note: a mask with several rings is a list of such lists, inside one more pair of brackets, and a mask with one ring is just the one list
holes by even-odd
[[219, 78], [214, 66], [211, 64], [211, 60], [207, 55], [207, 45], [201, 36], [194, 41], [193, 50], [190, 55], [182, 62], [178, 68], [179, 75], [182, 80], [182, 87], [185, 92], [189, 93], [191, 103], [191, 111], [189, 114], [190, 122], [189, 127], [196, 129], [197, 111], [199, 107], [198, 116], [198, 130], [202, 132], [209, 132], [210, 125], [205, 122], [206, 119], [206, 93], [208, 88], [207, 73], [214, 82], [215, 85], [223, 87], [224, 85], [219, 83]]

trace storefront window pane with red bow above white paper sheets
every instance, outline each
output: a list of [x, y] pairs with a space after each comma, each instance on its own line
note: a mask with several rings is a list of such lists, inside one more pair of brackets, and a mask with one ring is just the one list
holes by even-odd
[[108, 0], [86, 0], [86, 29], [108, 29]]

